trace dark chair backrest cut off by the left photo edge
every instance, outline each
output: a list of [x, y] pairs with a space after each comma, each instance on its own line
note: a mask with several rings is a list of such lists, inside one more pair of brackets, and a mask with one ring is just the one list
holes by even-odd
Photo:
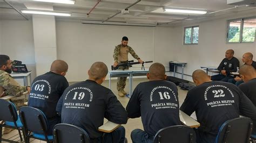
[[14, 103], [0, 99], [0, 120], [17, 121], [18, 113]]

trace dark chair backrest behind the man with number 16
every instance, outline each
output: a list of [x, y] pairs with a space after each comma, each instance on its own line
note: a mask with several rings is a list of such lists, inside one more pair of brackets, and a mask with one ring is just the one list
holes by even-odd
[[191, 127], [184, 125], [165, 127], [157, 132], [153, 142], [196, 142], [196, 133]]

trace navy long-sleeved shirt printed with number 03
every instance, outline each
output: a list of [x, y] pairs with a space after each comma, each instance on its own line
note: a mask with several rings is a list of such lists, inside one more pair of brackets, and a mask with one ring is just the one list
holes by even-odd
[[46, 118], [56, 117], [56, 105], [69, 83], [62, 75], [49, 71], [33, 80], [28, 106], [40, 109]]

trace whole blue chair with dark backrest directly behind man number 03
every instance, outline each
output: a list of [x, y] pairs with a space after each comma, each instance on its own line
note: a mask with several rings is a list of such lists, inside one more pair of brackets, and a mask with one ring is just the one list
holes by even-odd
[[24, 106], [19, 109], [19, 116], [24, 125], [25, 142], [30, 138], [53, 142], [53, 135], [48, 135], [48, 121], [44, 113], [36, 108]]

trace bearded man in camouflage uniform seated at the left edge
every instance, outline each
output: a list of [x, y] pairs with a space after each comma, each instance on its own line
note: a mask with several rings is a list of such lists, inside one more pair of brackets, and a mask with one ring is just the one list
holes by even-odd
[[30, 92], [30, 87], [24, 87], [11, 77], [12, 63], [7, 55], [0, 55], [0, 97], [13, 95], [22, 96], [24, 91]]

